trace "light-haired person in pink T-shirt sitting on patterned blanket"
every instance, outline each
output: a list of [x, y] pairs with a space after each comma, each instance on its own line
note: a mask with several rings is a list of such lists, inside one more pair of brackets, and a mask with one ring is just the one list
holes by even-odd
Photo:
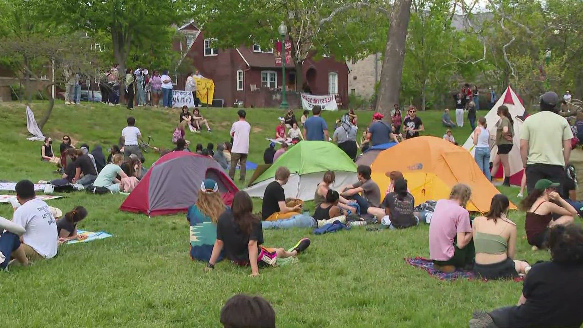
[[458, 183], [449, 199], [437, 201], [429, 225], [429, 256], [436, 270], [449, 273], [474, 263], [472, 226], [465, 209], [471, 196], [470, 187]]

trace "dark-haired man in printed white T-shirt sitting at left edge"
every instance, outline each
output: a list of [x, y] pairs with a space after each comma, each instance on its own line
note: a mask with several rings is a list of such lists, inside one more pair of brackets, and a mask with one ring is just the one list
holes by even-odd
[[8, 266], [11, 256], [27, 265], [29, 260], [51, 259], [57, 255], [57, 222], [47, 203], [36, 199], [34, 184], [29, 180], [20, 181], [15, 189], [20, 207], [14, 211], [12, 224], [2, 226], [9, 231], [0, 236], [1, 269]]

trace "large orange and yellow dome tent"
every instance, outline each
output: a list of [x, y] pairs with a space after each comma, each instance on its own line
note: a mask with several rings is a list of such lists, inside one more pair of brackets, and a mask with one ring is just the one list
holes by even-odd
[[[465, 183], [472, 188], [468, 211], [487, 212], [490, 201], [500, 193], [480, 171], [469, 151], [451, 142], [436, 137], [408, 139], [378, 154], [371, 165], [371, 174], [381, 192], [387, 190], [391, 171], [401, 171], [415, 197], [415, 205], [426, 200], [449, 197], [456, 183]], [[516, 206], [510, 203], [510, 208]]]

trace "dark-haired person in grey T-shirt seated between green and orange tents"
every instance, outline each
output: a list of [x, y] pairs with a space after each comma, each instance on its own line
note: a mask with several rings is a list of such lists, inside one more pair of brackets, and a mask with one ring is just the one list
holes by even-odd
[[[370, 166], [359, 165], [356, 168], [356, 177], [359, 181], [340, 189], [342, 190], [340, 196], [348, 200], [355, 200], [359, 203], [361, 215], [367, 213], [377, 215], [379, 211], [374, 211], [374, 209], [381, 210], [381, 190], [378, 189], [378, 184], [370, 179], [370, 174]], [[363, 196], [360, 196], [360, 193], [362, 193]], [[369, 207], [373, 208], [374, 213], [368, 211]], [[384, 211], [381, 210], [381, 212]], [[382, 214], [381, 217], [382, 216], [384, 216], [384, 214]]]

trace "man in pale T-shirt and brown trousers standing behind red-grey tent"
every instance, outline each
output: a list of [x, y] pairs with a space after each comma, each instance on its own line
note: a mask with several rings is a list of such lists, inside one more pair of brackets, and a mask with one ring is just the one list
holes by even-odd
[[249, 133], [251, 132], [251, 125], [245, 121], [247, 113], [243, 109], [237, 111], [237, 114], [239, 120], [231, 126], [233, 147], [231, 148], [231, 168], [229, 169], [229, 176], [232, 180], [235, 180], [235, 168], [237, 167], [237, 162], [241, 162], [239, 180], [244, 182], [247, 155], [249, 154]]

